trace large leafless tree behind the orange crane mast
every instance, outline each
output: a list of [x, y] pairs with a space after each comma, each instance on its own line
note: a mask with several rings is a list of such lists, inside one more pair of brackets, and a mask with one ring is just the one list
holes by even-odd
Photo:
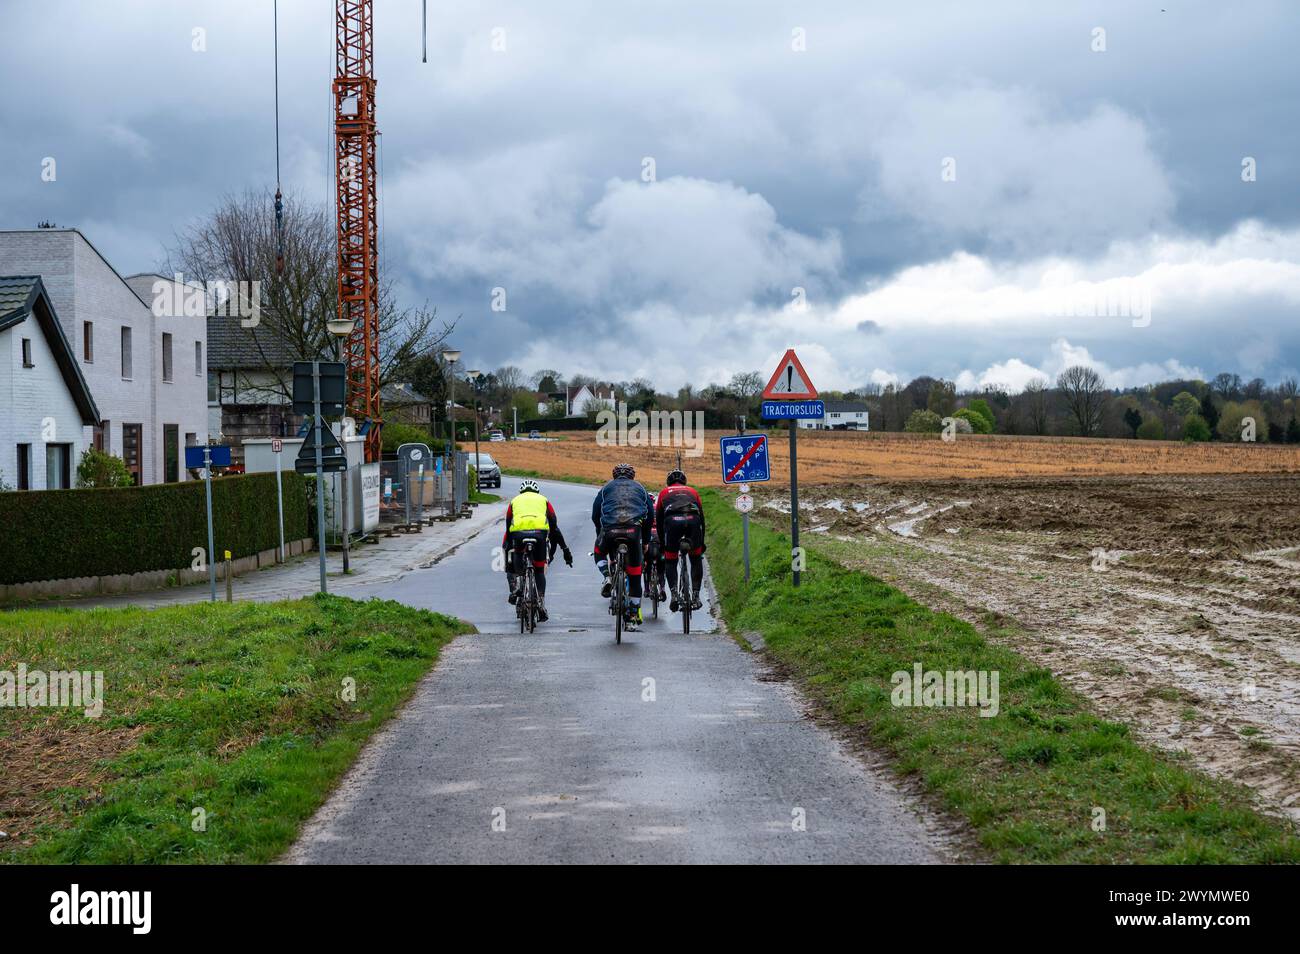
[[[290, 396], [295, 360], [332, 359], [334, 335], [326, 322], [338, 311], [335, 224], [321, 205], [285, 200], [285, 261], [277, 268], [276, 217], [272, 199], [248, 191], [226, 196], [205, 218], [176, 237], [166, 272], [187, 282], [257, 282], [257, 325], [242, 328], [231, 317], [231, 334], [264, 372], [259, 386]], [[399, 308], [391, 282], [380, 283], [380, 383], [394, 370], [430, 355], [455, 328], [441, 322], [437, 309]]]

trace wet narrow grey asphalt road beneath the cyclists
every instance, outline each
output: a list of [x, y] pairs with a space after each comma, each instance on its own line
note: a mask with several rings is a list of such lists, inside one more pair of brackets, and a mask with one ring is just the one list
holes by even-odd
[[[506, 478], [502, 494], [517, 491]], [[500, 524], [437, 564], [358, 590], [473, 621], [286, 857], [324, 863], [941, 860], [888, 782], [793, 690], [697, 613], [614, 643], [592, 487], [545, 482], [573, 568], [521, 636], [494, 568]], [[503, 509], [503, 507], [502, 507]], [[714, 559], [722, 559], [714, 555]]]

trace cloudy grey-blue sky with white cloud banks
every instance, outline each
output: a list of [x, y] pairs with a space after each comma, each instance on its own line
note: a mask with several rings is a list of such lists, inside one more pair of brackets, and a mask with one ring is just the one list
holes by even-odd
[[[0, 8], [0, 227], [127, 274], [274, 190], [270, 0]], [[384, 268], [468, 367], [1300, 373], [1294, 1], [429, 0], [428, 64], [419, 0], [376, 8]], [[280, 4], [282, 181], [321, 204], [333, 29]]]

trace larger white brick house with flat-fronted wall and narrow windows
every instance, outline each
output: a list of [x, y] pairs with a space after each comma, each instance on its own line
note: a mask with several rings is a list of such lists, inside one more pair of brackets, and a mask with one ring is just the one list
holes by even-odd
[[0, 274], [42, 278], [103, 416], [82, 443], [138, 483], [186, 480], [185, 446], [208, 441], [207, 322], [155, 313], [155, 287], [174, 278], [122, 278], [77, 229], [0, 230]]

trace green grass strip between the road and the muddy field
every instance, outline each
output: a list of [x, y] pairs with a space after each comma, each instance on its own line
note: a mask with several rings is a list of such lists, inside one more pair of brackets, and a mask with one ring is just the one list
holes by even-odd
[[[819, 704], [965, 818], [994, 860], [1300, 862], [1294, 827], [1254, 811], [1247, 789], [1144, 749], [975, 626], [811, 551], [794, 589], [789, 538], [755, 521], [746, 585], [740, 515], [731, 496], [705, 494], [710, 567], [731, 629], [760, 632]], [[894, 706], [892, 676], [915, 663], [997, 672], [998, 714]]]

